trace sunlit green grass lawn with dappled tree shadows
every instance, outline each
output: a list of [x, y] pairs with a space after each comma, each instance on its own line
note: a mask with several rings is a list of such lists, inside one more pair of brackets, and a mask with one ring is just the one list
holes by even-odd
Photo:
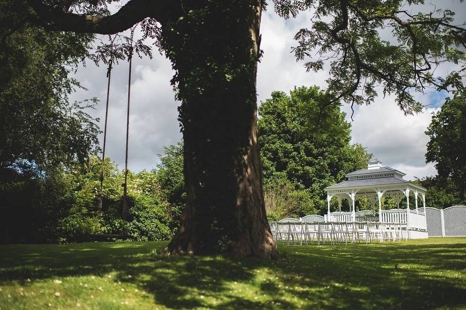
[[273, 262], [164, 245], [0, 245], [0, 310], [466, 309], [466, 238], [280, 246]]

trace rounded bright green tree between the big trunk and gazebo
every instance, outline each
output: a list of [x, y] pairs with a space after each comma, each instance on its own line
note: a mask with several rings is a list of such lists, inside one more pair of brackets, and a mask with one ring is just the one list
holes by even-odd
[[[265, 183], [288, 180], [305, 190], [320, 213], [326, 210], [324, 188], [365, 168], [370, 154], [351, 145], [350, 123], [328, 93], [318, 87], [273, 92], [259, 107], [259, 144]], [[306, 215], [299, 210], [298, 215]]]

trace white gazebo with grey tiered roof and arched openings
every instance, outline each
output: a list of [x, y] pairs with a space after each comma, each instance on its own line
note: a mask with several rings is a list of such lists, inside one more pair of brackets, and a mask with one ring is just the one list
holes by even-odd
[[[374, 208], [378, 203], [379, 222], [396, 222], [405, 225], [410, 231], [411, 238], [427, 238], [426, 231], [426, 188], [418, 186], [403, 179], [406, 173], [390, 167], [382, 167], [382, 162], [372, 157], [367, 169], [353, 171], [345, 176], [347, 181], [328, 186], [327, 192], [327, 221], [356, 221], [355, 201], [365, 197]], [[411, 210], [409, 196], [414, 196], [414, 210]], [[422, 197], [422, 208], [418, 208], [417, 198]], [[406, 199], [406, 209], [382, 210], [382, 197], [393, 198], [399, 206], [401, 200]], [[330, 212], [330, 201], [333, 197], [338, 200], [339, 211]], [[350, 212], [341, 211], [341, 202], [347, 199], [350, 202]], [[361, 212], [361, 211], [360, 211]]]

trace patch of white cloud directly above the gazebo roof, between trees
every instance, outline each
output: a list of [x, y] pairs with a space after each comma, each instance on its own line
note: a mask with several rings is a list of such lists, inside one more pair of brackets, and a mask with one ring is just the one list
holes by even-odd
[[438, 110], [428, 107], [417, 115], [405, 116], [394, 97], [379, 97], [374, 104], [356, 108], [351, 123], [352, 142], [361, 143], [383, 165], [407, 173], [406, 179], [436, 174], [433, 165], [425, 163], [429, 137], [424, 131], [432, 113]]

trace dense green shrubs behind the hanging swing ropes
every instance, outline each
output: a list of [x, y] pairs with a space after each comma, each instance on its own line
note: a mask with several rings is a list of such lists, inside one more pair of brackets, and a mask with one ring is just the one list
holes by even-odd
[[103, 210], [97, 209], [100, 158], [35, 178], [9, 170], [0, 182], [0, 242], [72, 242], [91, 234], [126, 235], [133, 240], [167, 240], [173, 209], [160, 191], [156, 171], [128, 174], [129, 217], [121, 219], [123, 171], [104, 162]]

